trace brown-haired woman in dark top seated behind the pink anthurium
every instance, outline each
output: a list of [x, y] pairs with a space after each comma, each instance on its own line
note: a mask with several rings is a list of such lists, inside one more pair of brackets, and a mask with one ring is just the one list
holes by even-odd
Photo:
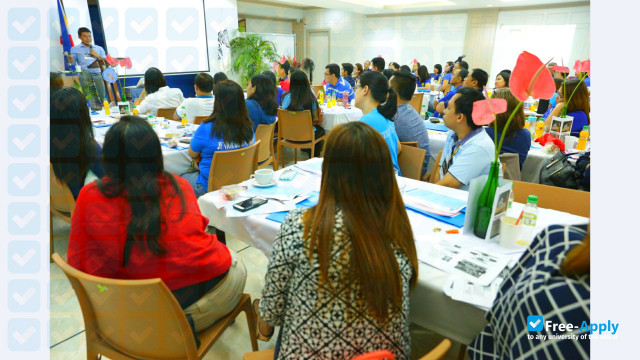
[[[513, 94], [511, 94], [511, 90], [509, 90], [508, 88], [494, 90], [491, 98], [507, 100], [507, 111], [501, 114], [496, 114], [495, 121], [498, 132], [495, 133], [493, 124], [485, 128], [487, 134], [489, 134], [489, 137], [491, 137], [493, 142], [497, 144], [500, 142], [502, 132], [505, 131], [504, 126], [507, 124], [509, 116], [516, 108], [516, 106], [518, 106], [519, 101], [515, 96], [513, 96]], [[520, 107], [520, 110], [518, 110], [513, 119], [511, 119], [509, 128], [506, 129], [504, 141], [502, 142], [502, 148], [500, 149], [501, 154], [518, 154], [520, 158], [520, 169], [522, 169], [522, 164], [524, 164], [524, 161], [527, 159], [529, 148], [531, 148], [531, 133], [529, 132], [529, 130], [524, 128], [524, 121], [524, 109]]]

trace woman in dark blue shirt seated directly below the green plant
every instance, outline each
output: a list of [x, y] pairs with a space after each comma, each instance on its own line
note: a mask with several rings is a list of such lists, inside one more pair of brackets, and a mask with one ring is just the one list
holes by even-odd
[[260, 124], [276, 122], [278, 103], [273, 91], [273, 83], [266, 75], [254, 75], [247, 85], [247, 109], [251, 118], [251, 129], [256, 131]]

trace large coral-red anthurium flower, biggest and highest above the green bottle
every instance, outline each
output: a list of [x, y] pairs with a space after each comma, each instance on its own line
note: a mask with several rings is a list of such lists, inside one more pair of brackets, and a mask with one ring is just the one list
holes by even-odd
[[556, 92], [556, 85], [546, 64], [526, 51], [518, 56], [509, 79], [509, 88], [513, 96], [520, 101], [527, 100], [529, 96], [547, 100]]

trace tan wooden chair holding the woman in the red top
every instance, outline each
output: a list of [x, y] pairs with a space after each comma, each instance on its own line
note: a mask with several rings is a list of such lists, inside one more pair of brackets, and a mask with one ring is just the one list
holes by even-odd
[[120, 280], [93, 276], [53, 261], [64, 271], [78, 297], [87, 338], [87, 359], [202, 359], [213, 343], [244, 311], [251, 348], [258, 350], [251, 297], [213, 326], [197, 334], [200, 347], [180, 304], [161, 279]]

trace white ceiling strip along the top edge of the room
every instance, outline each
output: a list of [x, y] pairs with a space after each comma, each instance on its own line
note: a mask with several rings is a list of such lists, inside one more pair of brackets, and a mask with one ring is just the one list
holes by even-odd
[[[260, 1], [262, 2], [262, 1]], [[385, 14], [424, 11], [460, 11], [467, 9], [511, 8], [522, 6], [588, 3], [580, 0], [266, 0], [297, 7], [348, 10], [361, 14]], [[263, 2], [263, 3], [264, 3]]]

